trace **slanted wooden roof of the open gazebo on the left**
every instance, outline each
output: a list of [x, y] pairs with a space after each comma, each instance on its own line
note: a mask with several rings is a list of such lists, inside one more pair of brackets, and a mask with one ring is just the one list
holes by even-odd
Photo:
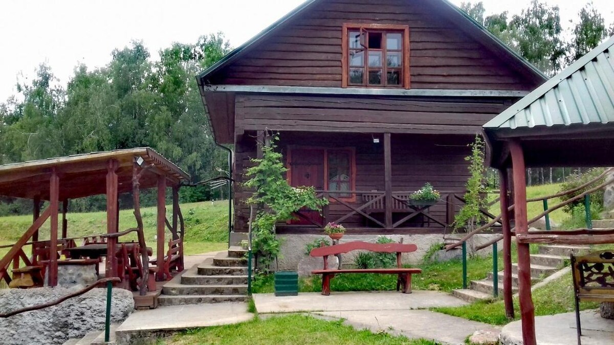
[[188, 174], [155, 150], [141, 147], [2, 165], [0, 195], [49, 200], [49, 181], [54, 169], [61, 179], [60, 200], [104, 194], [110, 160], [117, 162], [118, 192], [130, 192], [134, 161], [139, 157], [142, 166], [151, 166], [139, 180], [141, 188], [155, 187], [158, 176], [165, 176], [169, 185], [190, 180]]

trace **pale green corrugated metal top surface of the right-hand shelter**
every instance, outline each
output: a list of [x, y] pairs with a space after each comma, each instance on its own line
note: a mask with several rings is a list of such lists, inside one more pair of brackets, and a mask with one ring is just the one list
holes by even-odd
[[614, 122], [614, 36], [484, 125], [539, 128]]

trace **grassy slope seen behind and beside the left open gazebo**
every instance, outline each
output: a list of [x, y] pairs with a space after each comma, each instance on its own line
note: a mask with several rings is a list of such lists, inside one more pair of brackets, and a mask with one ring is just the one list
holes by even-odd
[[[167, 210], [172, 206], [166, 206]], [[228, 246], [228, 201], [215, 203], [181, 204], [181, 211], [185, 220], [185, 254], [201, 254], [223, 250]], [[145, 238], [149, 246], [155, 251], [156, 211], [155, 207], [141, 209]], [[167, 215], [169, 217], [169, 215]], [[80, 237], [87, 235], [100, 235], [106, 233], [106, 213], [68, 213], [68, 236]], [[120, 211], [120, 231], [136, 227], [133, 210]], [[61, 222], [61, 217], [60, 220]], [[15, 215], [0, 217], [0, 246], [13, 244], [23, 235], [32, 223], [31, 215]], [[41, 228], [41, 239], [49, 239], [49, 220]], [[170, 236], [167, 230], [166, 235]], [[136, 241], [136, 233], [123, 236], [121, 241]], [[9, 249], [0, 249], [0, 257]], [[26, 249], [29, 251], [29, 249]]]

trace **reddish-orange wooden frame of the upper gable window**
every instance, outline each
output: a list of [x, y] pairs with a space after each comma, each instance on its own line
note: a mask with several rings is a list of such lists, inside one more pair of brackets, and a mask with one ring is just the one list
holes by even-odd
[[[364, 38], [361, 37], [361, 45], [363, 47], [363, 77], [362, 83], [350, 83], [350, 69], [351, 66], [351, 52], [359, 51], [358, 48], [352, 48], [349, 46], [349, 37], [348, 33], [350, 31], [360, 31], [361, 36], [364, 34]], [[368, 34], [369, 33], [381, 33], [382, 44], [380, 48], [368, 48]], [[400, 50], [389, 50], [386, 47], [386, 34], [389, 33], [400, 33], [402, 34], [402, 47]], [[343, 51], [343, 56], [341, 59], [341, 66], [343, 68], [343, 76], [342, 76], [342, 86], [344, 88], [347, 87], [375, 87], [375, 88], [410, 88], [410, 28], [406, 25], [380, 25], [380, 24], [351, 24], [344, 23], [343, 24], [343, 34], [341, 35], [341, 47]], [[364, 40], [364, 41], [363, 41]], [[381, 52], [382, 56], [382, 66], [381, 67], [370, 67], [369, 66], [369, 56], [368, 52]], [[397, 67], [388, 67], [386, 56], [389, 52], [401, 52], [402, 53], [402, 66], [400, 68]], [[370, 84], [369, 83], [369, 70], [376, 69], [381, 70], [381, 84]], [[398, 85], [387, 85], [387, 71], [398, 71], [400, 70], [400, 80]]]

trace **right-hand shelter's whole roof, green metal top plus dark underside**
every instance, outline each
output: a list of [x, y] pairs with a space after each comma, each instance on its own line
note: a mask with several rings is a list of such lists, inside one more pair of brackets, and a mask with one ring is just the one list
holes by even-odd
[[614, 36], [484, 125], [491, 165], [510, 165], [518, 141], [527, 166], [614, 165]]

